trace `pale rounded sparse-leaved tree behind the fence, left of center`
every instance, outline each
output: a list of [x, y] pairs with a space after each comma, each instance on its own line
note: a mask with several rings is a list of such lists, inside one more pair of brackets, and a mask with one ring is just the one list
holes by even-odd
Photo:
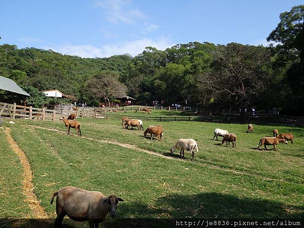
[[102, 71], [87, 82], [86, 88], [94, 97], [103, 98], [110, 105], [110, 98], [126, 95], [126, 86], [119, 82], [115, 71]]

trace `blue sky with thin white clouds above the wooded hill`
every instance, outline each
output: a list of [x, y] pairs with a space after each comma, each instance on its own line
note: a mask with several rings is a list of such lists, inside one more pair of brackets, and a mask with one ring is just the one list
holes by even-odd
[[298, 0], [10, 0], [0, 2], [0, 44], [81, 57], [211, 42], [267, 45]]

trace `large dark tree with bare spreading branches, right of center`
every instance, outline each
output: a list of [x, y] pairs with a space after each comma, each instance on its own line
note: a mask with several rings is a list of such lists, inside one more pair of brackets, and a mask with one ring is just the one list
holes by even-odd
[[265, 65], [270, 53], [267, 48], [241, 45], [219, 45], [214, 52], [212, 69], [200, 75], [200, 83], [206, 91], [220, 100], [244, 105], [250, 104], [263, 87], [267, 77]]

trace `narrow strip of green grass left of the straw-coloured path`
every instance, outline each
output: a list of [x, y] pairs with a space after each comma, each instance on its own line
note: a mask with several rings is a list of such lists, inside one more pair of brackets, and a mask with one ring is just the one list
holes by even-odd
[[29, 217], [31, 211], [22, 191], [22, 165], [0, 129], [0, 218]]

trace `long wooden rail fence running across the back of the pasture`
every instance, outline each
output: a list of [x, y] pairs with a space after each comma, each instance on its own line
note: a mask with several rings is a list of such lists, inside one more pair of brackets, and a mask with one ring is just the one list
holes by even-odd
[[[111, 108], [111, 107], [108, 107]], [[136, 106], [138, 109], [138, 106]], [[167, 110], [170, 108], [168, 107]], [[123, 109], [122, 109], [123, 110]], [[127, 110], [127, 109], [125, 109]], [[135, 110], [135, 107], [130, 106], [129, 110]], [[163, 109], [164, 110], [164, 109]], [[170, 109], [171, 110], [171, 109]], [[111, 111], [111, 109], [109, 110]], [[77, 118], [102, 118], [102, 119], [121, 119], [127, 116], [130, 119], [141, 119], [145, 121], [199, 121], [199, 122], [217, 122], [217, 123], [238, 123], [241, 122], [240, 113], [232, 110], [213, 110], [213, 115], [209, 111], [201, 111], [200, 116], [160, 116], [151, 117], [150, 115], [142, 116], [138, 112], [120, 113], [115, 115], [111, 112], [106, 112], [104, 107], [79, 107], [78, 110], [72, 109], [46, 109], [34, 108], [31, 106], [23, 106], [0, 102], [0, 116], [14, 119], [38, 119], [38, 120], [53, 120], [59, 119], [61, 116], [69, 116], [71, 113], [77, 114]], [[186, 113], [186, 112], [185, 112]], [[191, 112], [193, 114], [193, 111]], [[267, 115], [260, 114], [258, 116], [246, 116], [246, 123], [281, 123], [304, 126], [304, 117], [287, 116], [287, 115]]]

